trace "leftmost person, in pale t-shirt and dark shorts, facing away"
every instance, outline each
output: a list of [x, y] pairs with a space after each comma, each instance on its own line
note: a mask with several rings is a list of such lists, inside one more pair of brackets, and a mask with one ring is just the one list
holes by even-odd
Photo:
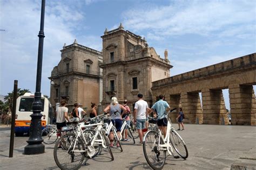
[[[62, 130], [64, 126], [66, 126], [66, 120], [70, 122], [69, 116], [68, 116], [68, 108], [66, 108], [66, 100], [60, 101], [60, 107], [58, 107], [56, 111], [56, 125], [58, 132]], [[60, 136], [60, 133], [57, 133], [57, 136]], [[61, 144], [59, 144], [58, 148], [60, 148]]]

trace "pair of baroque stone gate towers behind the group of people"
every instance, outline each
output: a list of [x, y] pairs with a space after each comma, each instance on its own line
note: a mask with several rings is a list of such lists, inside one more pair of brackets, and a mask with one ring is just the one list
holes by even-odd
[[[170, 77], [167, 51], [160, 58], [145, 38], [125, 31], [122, 24], [117, 29], [104, 32], [102, 52], [77, 44], [63, 47], [62, 59], [51, 73], [51, 103], [60, 97], [68, 98], [69, 110], [73, 103], [81, 103], [90, 110], [94, 102], [102, 111], [117, 97], [119, 103], [126, 99], [131, 111], [137, 95], [152, 105], [152, 82]], [[102, 109], [103, 108], [103, 109]]]

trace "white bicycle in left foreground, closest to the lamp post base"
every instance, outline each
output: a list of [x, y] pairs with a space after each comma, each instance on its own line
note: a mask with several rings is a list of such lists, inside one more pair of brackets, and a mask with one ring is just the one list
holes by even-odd
[[[91, 119], [89, 119], [89, 121], [90, 120]], [[88, 121], [80, 122], [76, 134], [67, 133], [57, 140], [53, 155], [55, 162], [60, 169], [80, 168], [86, 154], [91, 158], [95, 155], [95, 145], [102, 145], [102, 147], [107, 148], [111, 155], [111, 160], [114, 160], [110, 144], [107, 140], [108, 138], [103, 129], [103, 122], [96, 124], [87, 124], [87, 122]], [[88, 140], [84, 135], [84, 133], [87, 133], [84, 132], [86, 130], [82, 130], [83, 128], [88, 128], [90, 126], [97, 126], [96, 133], [93, 135], [93, 138], [90, 138], [92, 140]], [[92, 129], [88, 130], [91, 131]]]

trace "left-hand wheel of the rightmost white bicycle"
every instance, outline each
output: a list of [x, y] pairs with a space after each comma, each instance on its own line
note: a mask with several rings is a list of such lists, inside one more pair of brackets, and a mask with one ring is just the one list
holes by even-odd
[[[160, 138], [161, 139], [161, 138]], [[153, 169], [162, 169], [165, 164], [166, 150], [159, 148], [159, 133], [156, 131], [149, 131], [145, 135], [143, 142], [143, 152], [147, 163]], [[160, 140], [160, 144], [164, 144], [163, 140]]]

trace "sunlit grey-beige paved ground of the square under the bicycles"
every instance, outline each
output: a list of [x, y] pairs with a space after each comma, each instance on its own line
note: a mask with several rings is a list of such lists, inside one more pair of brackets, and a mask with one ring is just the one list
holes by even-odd
[[[177, 124], [174, 124], [177, 128]], [[28, 137], [15, 137], [14, 158], [8, 158], [10, 130], [0, 127], [0, 169], [58, 169], [53, 159], [53, 146], [46, 145], [45, 153], [23, 155]], [[232, 165], [256, 169], [256, 127], [221, 125], [186, 125], [180, 131], [188, 148], [188, 158], [167, 157], [164, 169], [231, 169]], [[150, 169], [142, 146], [123, 143], [124, 152], [109, 153], [86, 160], [81, 169]]]

